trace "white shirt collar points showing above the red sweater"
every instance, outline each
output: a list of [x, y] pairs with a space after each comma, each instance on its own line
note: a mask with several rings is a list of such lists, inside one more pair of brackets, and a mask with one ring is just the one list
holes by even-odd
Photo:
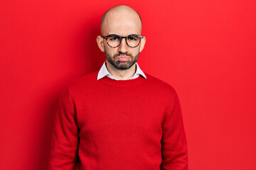
[[[105, 76], [110, 77], [110, 79], [118, 80], [118, 79], [112, 77], [110, 72], [107, 71], [107, 67], [106, 67], [105, 63], [106, 62], [103, 63], [102, 67], [100, 68], [99, 73], [97, 74], [97, 80], [99, 80], [99, 79], [101, 79], [101, 78], [103, 78]], [[146, 76], [145, 76], [144, 72], [142, 72], [142, 69], [139, 68], [139, 64], [137, 62], [135, 62], [135, 64], [136, 64], [136, 72], [133, 75], [133, 77], [130, 77], [129, 79], [136, 79], [136, 78], [139, 77], [139, 74], [141, 74], [146, 79]]]

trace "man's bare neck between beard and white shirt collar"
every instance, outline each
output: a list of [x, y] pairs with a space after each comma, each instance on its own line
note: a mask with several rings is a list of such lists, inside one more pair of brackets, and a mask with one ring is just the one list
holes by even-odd
[[114, 67], [110, 62], [106, 62], [107, 71], [110, 72], [112, 77], [119, 79], [119, 80], [125, 80], [131, 78], [135, 72], [136, 72], [136, 64], [133, 64], [132, 67], [129, 69], [117, 69]]

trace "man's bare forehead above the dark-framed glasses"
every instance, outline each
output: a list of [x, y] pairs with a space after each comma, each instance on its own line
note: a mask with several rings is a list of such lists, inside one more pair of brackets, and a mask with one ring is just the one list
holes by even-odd
[[134, 11], [119, 10], [107, 13], [105, 22], [102, 24], [102, 35], [117, 34], [141, 34], [142, 23]]

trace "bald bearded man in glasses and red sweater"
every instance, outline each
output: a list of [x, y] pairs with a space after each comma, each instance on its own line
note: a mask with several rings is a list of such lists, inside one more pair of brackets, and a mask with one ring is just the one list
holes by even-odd
[[50, 170], [185, 170], [186, 135], [178, 96], [137, 64], [146, 38], [129, 6], [110, 8], [97, 44], [107, 61], [60, 96]]

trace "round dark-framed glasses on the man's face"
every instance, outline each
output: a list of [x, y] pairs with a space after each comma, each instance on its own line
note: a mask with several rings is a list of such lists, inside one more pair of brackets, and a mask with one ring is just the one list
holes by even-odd
[[125, 38], [125, 42], [129, 47], [137, 47], [141, 42], [142, 38], [144, 37], [137, 34], [131, 34], [131, 35], [128, 35], [127, 37], [121, 37], [120, 35], [110, 34], [103, 38], [107, 40], [107, 45], [115, 48], [121, 44], [123, 38]]

